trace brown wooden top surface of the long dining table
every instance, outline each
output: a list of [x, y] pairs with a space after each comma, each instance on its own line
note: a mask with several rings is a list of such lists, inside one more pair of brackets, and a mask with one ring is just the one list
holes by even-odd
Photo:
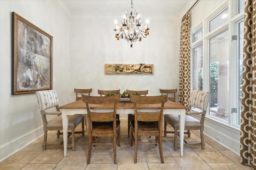
[[[134, 108], [134, 103], [133, 102], [119, 102], [117, 104], [117, 109], [133, 109]], [[154, 104], [154, 105], [148, 105], [148, 104], [138, 104], [138, 108], [140, 109], [159, 109], [161, 107], [161, 104]], [[72, 102], [63, 106], [59, 107], [60, 109], [86, 109], [86, 104], [82, 100], [78, 100], [76, 102]], [[95, 105], [95, 104], [90, 104], [91, 109], [108, 109], [108, 108], [113, 108], [113, 105], [109, 104], [102, 104], [102, 105]], [[172, 102], [168, 100], [164, 104], [164, 109], [185, 109], [186, 107]]]

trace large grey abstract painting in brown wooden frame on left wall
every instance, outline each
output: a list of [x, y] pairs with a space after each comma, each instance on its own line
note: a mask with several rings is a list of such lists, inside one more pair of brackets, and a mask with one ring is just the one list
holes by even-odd
[[52, 89], [52, 39], [12, 12], [12, 95]]

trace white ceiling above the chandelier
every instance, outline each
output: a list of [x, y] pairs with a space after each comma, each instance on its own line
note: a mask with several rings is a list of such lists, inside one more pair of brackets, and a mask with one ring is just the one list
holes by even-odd
[[[168, 14], [182, 17], [196, 0], [133, 0], [133, 10], [141, 14]], [[124, 14], [131, 0], [58, 0], [72, 16], [86, 14]]]

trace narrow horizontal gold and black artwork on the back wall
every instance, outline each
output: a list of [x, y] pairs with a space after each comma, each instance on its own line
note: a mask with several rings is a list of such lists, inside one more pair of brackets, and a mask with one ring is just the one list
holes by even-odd
[[106, 74], [153, 74], [154, 64], [105, 64]]

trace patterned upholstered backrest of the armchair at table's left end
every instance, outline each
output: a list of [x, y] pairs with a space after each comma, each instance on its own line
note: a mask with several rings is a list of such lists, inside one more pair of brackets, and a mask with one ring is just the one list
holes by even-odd
[[36, 98], [40, 111], [59, 105], [58, 96], [55, 90], [44, 90], [36, 92]]

